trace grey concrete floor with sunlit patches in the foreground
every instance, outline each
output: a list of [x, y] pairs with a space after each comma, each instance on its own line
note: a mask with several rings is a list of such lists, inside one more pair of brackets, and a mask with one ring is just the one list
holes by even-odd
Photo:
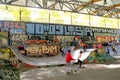
[[[76, 74], [66, 74], [66, 66], [34, 68], [21, 72], [21, 80], [120, 80], [120, 62], [116, 64], [86, 64]], [[75, 69], [78, 65], [74, 65]]]

